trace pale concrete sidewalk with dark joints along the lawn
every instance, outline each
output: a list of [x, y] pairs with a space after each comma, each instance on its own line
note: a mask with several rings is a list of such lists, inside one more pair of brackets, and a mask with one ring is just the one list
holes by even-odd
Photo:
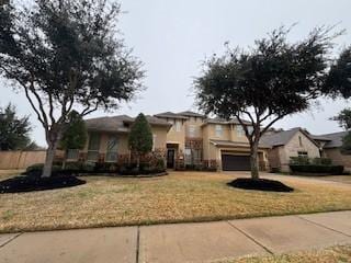
[[0, 262], [212, 262], [342, 243], [351, 243], [351, 211], [0, 235]]

